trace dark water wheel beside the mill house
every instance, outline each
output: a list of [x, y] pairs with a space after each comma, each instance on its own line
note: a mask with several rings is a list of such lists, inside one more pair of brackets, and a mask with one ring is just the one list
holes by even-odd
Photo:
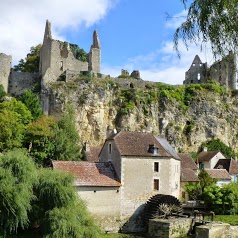
[[148, 225], [149, 219], [179, 216], [183, 213], [180, 201], [171, 195], [157, 194], [151, 197], [144, 208], [144, 222]]

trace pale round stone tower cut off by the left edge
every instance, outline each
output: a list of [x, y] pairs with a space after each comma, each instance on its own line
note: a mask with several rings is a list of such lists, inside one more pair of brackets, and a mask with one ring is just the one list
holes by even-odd
[[11, 64], [12, 56], [0, 53], [0, 84], [2, 84], [5, 92], [8, 92]]

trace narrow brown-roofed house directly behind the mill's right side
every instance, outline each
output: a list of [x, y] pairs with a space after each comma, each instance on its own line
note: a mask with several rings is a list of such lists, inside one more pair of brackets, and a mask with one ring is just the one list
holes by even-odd
[[188, 182], [197, 183], [199, 169], [193, 158], [189, 154], [179, 153], [181, 158], [181, 177], [180, 177], [180, 199], [188, 200], [188, 195], [185, 192], [184, 185]]

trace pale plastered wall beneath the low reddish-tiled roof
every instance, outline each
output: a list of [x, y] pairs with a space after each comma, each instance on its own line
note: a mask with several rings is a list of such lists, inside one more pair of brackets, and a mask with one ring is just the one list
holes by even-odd
[[120, 227], [119, 187], [76, 187], [87, 208], [105, 231], [118, 232]]

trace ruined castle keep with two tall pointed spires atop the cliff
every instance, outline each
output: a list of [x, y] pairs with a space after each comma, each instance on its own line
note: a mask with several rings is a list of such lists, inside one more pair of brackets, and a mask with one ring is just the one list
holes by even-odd
[[88, 53], [88, 60], [82, 62], [74, 57], [66, 42], [54, 40], [51, 36], [51, 24], [46, 21], [45, 35], [40, 55], [41, 101], [44, 113], [50, 110], [49, 85], [56, 82], [61, 75], [65, 81], [72, 75], [80, 73], [100, 74], [101, 47], [96, 31], [93, 33], [93, 44]]

